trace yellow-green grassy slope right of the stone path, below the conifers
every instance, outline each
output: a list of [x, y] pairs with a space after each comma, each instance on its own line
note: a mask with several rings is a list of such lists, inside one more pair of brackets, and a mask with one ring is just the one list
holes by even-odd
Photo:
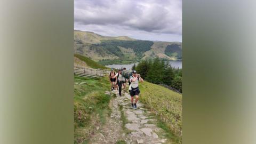
[[181, 143], [181, 137], [177, 133], [182, 131], [182, 95], [149, 82], [140, 84], [140, 92], [140, 100], [147, 107], [155, 109], [157, 115], [162, 115], [163, 121], [159, 121], [158, 126], [166, 132], [173, 131], [167, 137]]

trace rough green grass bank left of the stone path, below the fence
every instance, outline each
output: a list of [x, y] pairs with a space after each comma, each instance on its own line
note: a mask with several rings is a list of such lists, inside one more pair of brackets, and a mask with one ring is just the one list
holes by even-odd
[[104, 124], [111, 111], [108, 107], [109, 88], [107, 77], [99, 79], [75, 76], [74, 84], [74, 143], [89, 141], [95, 127]]

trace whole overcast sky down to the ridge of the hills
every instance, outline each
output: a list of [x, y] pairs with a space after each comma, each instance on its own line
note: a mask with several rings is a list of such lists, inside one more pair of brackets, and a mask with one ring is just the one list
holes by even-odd
[[181, 42], [181, 8], [181, 0], [75, 0], [75, 29]]

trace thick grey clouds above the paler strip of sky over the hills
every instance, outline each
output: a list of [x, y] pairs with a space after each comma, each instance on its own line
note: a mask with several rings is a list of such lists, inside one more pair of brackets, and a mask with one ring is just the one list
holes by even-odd
[[75, 1], [75, 25], [116, 25], [181, 34], [181, 1]]

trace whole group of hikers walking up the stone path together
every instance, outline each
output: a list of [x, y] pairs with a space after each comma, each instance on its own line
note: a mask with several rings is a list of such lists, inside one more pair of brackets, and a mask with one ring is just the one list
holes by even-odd
[[[122, 86], [124, 89], [126, 87], [126, 82], [129, 82], [129, 93], [131, 95], [131, 106], [132, 108], [137, 108], [137, 102], [139, 100], [139, 82], [143, 82], [143, 78], [140, 77], [140, 74], [137, 74], [136, 70], [132, 70], [132, 76], [129, 79], [126, 79], [122, 75], [122, 71], [126, 70], [126, 68], [118, 69], [118, 73], [116, 74], [114, 69], [111, 69], [109, 74], [109, 79], [111, 83], [111, 91], [117, 90], [119, 91], [119, 96], [122, 96]], [[135, 97], [135, 102], [134, 102]]]

